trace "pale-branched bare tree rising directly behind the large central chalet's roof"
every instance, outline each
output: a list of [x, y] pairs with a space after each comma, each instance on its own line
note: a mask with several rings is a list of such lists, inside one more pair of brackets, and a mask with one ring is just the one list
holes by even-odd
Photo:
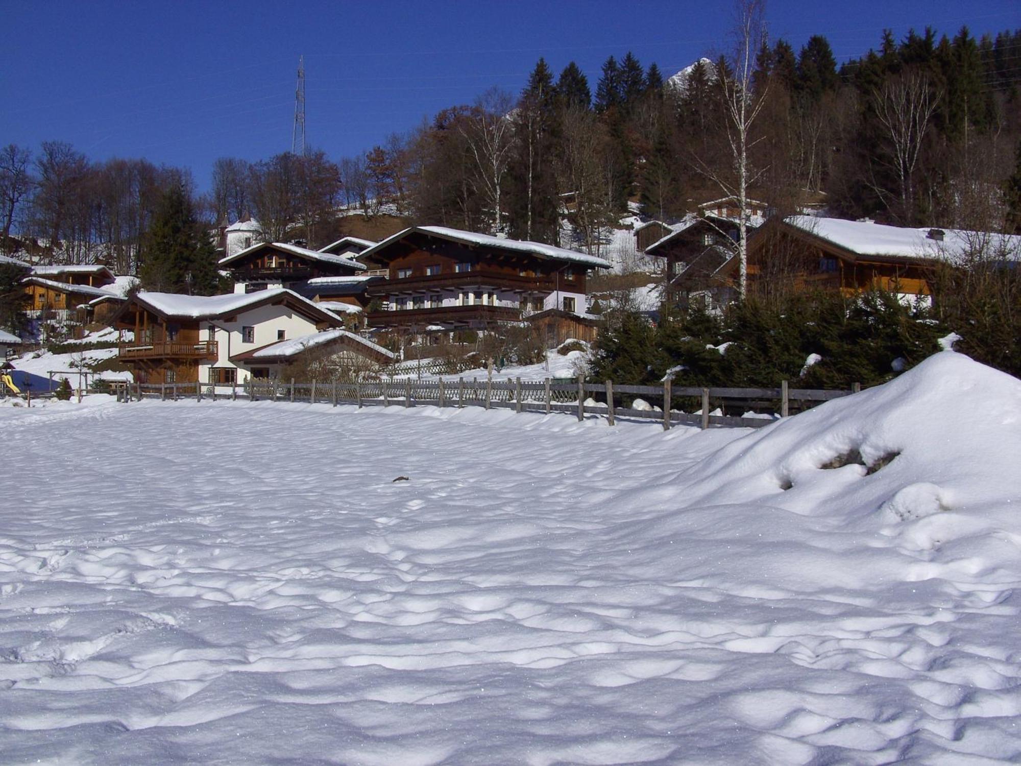
[[471, 118], [459, 124], [475, 161], [478, 187], [493, 211], [494, 233], [503, 225], [501, 193], [513, 147], [514, 124], [507, 116], [513, 106], [514, 97], [493, 87], [476, 99]]

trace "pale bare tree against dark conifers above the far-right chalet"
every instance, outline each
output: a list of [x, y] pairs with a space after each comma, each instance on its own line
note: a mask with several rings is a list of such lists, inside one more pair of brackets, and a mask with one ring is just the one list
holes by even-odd
[[[907, 224], [915, 210], [915, 169], [940, 97], [929, 78], [920, 71], [904, 71], [890, 78], [882, 88], [872, 91], [872, 97], [888, 142], [889, 163], [897, 178], [902, 216]], [[875, 188], [882, 195], [881, 188]]]

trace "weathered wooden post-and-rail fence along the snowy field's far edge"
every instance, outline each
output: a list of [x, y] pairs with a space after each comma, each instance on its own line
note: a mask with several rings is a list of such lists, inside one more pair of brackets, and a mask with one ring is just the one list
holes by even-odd
[[[440, 378], [435, 381], [381, 380], [355, 383], [295, 383], [293, 380], [260, 380], [235, 386], [224, 393], [224, 386], [201, 383], [133, 383], [116, 392], [118, 401], [159, 398], [242, 399], [248, 401], [304, 401], [361, 406], [481, 406], [486, 410], [510, 409], [519, 413], [573, 413], [578, 420], [586, 415], [603, 416], [610, 425], [618, 418], [655, 421], [664, 429], [673, 425], [760, 428], [773, 422], [773, 417], [746, 418], [734, 415], [711, 415], [714, 406], [740, 410], [771, 410], [773, 415], [786, 417], [791, 410], [804, 410], [820, 401], [847, 396], [849, 391], [789, 388], [783, 381], [779, 388], [693, 388], [672, 386], [618, 385], [612, 381], [589, 383], [584, 378], [563, 382], [545, 380], [466, 380]], [[657, 409], [637, 410], [624, 406], [636, 398], [658, 402]], [[588, 403], [586, 403], [586, 401]], [[592, 403], [592, 402], [595, 403]], [[689, 415], [675, 409], [677, 404], [700, 405], [700, 412]], [[793, 406], [792, 406], [793, 405]], [[650, 405], [651, 406], [651, 405]], [[693, 406], [690, 409], [694, 409]]]

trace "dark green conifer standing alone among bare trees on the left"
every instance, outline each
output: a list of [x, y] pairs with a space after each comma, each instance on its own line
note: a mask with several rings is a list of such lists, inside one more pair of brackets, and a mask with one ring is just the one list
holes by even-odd
[[218, 286], [215, 251], [182, 184], [163, 193], [139, 251], [147, 290], [211, 295]]

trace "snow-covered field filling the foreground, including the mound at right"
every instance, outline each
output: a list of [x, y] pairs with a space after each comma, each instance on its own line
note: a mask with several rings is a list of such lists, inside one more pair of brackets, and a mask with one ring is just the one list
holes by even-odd
[[4, 764], [1021, 757], [1021, 382], [954, 352], [753, 432], [90, 396], [0, 437]]

